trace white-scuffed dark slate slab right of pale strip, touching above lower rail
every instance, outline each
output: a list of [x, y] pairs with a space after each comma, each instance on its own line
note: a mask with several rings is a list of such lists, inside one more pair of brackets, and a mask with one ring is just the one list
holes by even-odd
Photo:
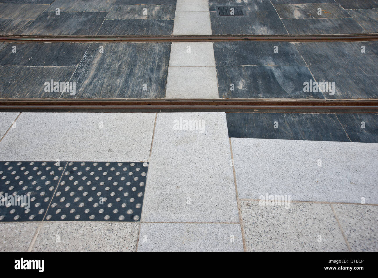
[[[220, 98], [324, 98], [321, 92], [305, 93], [303, 83], [312, 79], [307, 67], [216, 67]], [[231, 90], [234, 84], [234, 90]]]

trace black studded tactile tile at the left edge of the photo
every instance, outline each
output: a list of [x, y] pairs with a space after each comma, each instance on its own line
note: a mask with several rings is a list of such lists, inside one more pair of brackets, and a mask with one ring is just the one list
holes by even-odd
[[[57, 162], [0, 162], [1, 222], [42, 221], [66, 162], [56, 164]], [[11, 200], [14, 203], [9, 203]]]

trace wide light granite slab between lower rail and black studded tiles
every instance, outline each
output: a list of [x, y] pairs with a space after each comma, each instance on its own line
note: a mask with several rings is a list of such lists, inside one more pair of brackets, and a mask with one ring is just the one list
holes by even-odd
[[139, 162], [149, 157], [155, 113], [22, 113], [0, 160]]

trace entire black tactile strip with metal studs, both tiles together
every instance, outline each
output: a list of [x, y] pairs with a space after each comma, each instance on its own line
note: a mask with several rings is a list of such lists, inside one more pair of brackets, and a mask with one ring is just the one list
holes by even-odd
[[147, 162], [54, 163], [0, 162], [0, 221], [139, 221]]

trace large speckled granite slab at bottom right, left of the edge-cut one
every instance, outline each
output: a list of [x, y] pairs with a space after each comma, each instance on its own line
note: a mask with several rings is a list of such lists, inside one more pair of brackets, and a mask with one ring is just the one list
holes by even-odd
[[247, 251], [348, 251], [329, 204], [240, 205]]

